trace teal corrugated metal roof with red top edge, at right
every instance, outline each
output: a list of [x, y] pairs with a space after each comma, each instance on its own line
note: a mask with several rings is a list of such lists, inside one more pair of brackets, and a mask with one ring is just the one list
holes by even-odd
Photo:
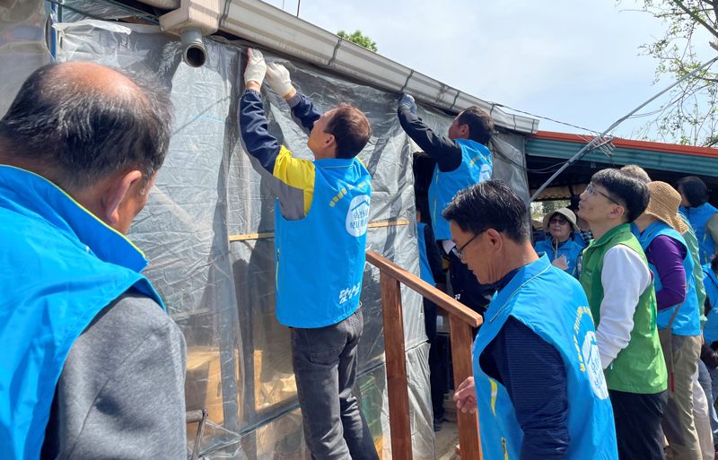
[[[583, 135], [539, 131], [526, 142], [526, 154], [570, 159], [591, 138]], [[645, 169], [696, 174], [718, 178], [718, 149], [671, 143], [651, 143], [615, 138], [611, 155], [601, 151], [587, 153], [582, 161], [607, 165], [637, 164]]]

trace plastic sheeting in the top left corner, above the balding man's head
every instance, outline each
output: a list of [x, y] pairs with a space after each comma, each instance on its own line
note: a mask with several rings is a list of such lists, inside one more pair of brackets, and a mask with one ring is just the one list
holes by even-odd
[[[42, 0], [0, 2], [0, 117], [25, 79], [50, 62], [45, 43], [48, 12]], [[13, 63], [9, 65], [9, 63]]]

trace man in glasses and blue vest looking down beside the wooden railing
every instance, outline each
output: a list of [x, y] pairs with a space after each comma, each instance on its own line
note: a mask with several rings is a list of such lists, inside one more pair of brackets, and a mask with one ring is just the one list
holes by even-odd
[[461, 261], [496, 288], [457, 388], [478, 410], [485, 458], [618, 458], [609, 390], [581, 284], [531, 247], [526, 204], [501, 181], [462, 190], [443, 212]]

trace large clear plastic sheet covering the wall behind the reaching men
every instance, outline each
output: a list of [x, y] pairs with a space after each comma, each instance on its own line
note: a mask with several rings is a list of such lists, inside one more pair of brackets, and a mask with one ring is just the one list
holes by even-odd
[[[153, 72], [171, 90], [170, 152], [130, 238], [151, 260], [146, 274], [162, 293], [188, 343], [187, 408], [206, 408], [206, 459], [308, 458], [296, 402], [288, 330], [274, 316], [274, 200], [266, 175], [244, 152], [237, 129], [241, 48], [206, 39], [208, 60], [184, 65], [179, 41], [153, 26], [87, 21], [56, 24], [57, 59], [92, 60]], [[0, 58], [6, 49], [0, 48]], [[267, 51], [269, 59], [276, 59]], [[321, 109], [351, 101], [372, 124], [360, 154], [373, 177], [367, 245], [417, 273], [411, 152], [396, 117], [397, 96], [300, 62], [284, 63]], [[40, 65], [43, 60], [39, 60]], [[18, 70], [16, 82], [28, 72]], [[285, 101], [263, 89], [270, 130], [296, 156], [306, 136]], [[10, 98], [3, 98], [10, 99]], [[439, 132], [451, 117], [419, 108]], [[506, 166], [497, 164], [497, 174]], [[514, 187], [524, 187], [518, 176]], [[230, 242], [232, 236], [232, 242]], [[307, 261], [311, 270], [312, 261]], [[379, 273], [367, 266], [361, 297], [364, 333], [356, 391], [383, 458], [390, 458]], [[433, 429], [421, 299], [402, 291], [412, 443], [433, 458]], [[301, 306], [300, 306], [301, 307]], [[195, 428], [188, 428], [188, 448]]]

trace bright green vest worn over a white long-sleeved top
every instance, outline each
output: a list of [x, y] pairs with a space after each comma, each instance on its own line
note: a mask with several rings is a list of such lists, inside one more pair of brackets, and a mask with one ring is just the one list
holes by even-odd
[[[600, 304], [603, 301], [603, 284], [600, 282], [603, 257], [616, 245], [630, 247], [641, 256], [644, 264], [648, 265], [644, 250], [627, 223], [609, 230], [586, 247], [582, 256], [580, 281], [589, 299], [597, 329], [600, 322]], [[625, 349], [618, 352], [616, 360], [605, 370], [605, 374], [609, 390], [652, 395], [666, 389], [668, 373], [658, 338], [656, 297], [652, 284], [638, 299], [631, 341]]]

